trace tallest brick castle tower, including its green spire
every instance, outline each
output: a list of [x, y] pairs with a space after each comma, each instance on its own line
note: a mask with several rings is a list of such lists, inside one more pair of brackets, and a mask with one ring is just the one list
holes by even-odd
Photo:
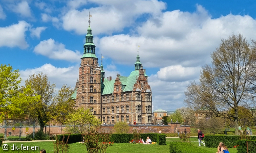
[[98, 58], [95, 55], [95, 45], [90, 24], [87, 30], [86, 43], [83, 45], [78, 86], [76, 97], [78, 102], [76, 106], [89, 108], [97, 118], [100, 118], [101, 69], [98, 66]]

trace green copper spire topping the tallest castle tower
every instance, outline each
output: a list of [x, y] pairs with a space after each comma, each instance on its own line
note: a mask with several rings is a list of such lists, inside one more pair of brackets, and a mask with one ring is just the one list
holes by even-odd
[[95, 55], [95, 45], [93, 43], [92, 29], [90, 26], [90, 13], [89, 13], [89, 27], [87, 29], [86, 43], [83, 45], [83, 56], [82, 58], [97, 58]]

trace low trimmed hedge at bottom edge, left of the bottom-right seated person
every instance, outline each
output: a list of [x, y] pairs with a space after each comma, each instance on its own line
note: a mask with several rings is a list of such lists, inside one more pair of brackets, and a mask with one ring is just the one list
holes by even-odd
[[208, 150], [187, 142], [170, 142], [170, 153], [211, 153]]

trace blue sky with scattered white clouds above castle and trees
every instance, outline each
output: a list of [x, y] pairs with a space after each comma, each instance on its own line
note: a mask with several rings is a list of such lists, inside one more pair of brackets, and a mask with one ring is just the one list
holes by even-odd
[[174, 111], [222, 38], [256, 39], [255, 8], [254, 1], [0, 0], [0, 63], [23, 80], [43, 72], [58, 88], [74, 87], [90, 11], [105, 77], [129, 75], [139, 43], [153, 110]]

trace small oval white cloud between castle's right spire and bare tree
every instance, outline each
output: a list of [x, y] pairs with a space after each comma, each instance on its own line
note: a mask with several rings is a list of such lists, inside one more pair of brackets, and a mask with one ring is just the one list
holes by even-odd
[[201, 67], [182, 67], [172, 65], [160, 68], [157, 72], [158, 79], [169, 82], [182, 82], [198, 78]]

